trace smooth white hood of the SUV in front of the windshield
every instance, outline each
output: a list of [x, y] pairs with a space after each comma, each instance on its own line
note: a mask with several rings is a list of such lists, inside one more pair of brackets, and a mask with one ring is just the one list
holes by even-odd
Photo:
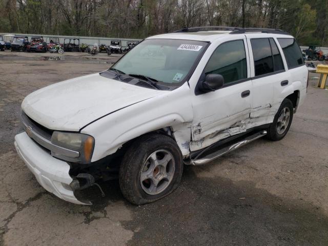
[[48, 129], [79, 131], [101, 116], [163, 93], [168, 91], [129, 85], [96, 73], [37, 90], [24, 99], [22, 109]]

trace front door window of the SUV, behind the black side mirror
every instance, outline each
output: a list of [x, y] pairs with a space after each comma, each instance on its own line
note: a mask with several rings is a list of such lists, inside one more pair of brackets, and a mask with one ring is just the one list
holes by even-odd
[[247, 78], [247, 61], [243, 40], [221, 44], [213, 52], [204, 69], [205, 74], [221, 74], [224, 85]]

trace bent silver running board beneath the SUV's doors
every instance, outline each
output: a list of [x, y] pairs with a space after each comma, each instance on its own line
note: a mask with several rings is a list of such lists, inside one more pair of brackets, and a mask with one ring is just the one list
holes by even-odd
[[239, 147], [244, 146], [244, 145], [248, 144], [249, 142], [252, 142], [252, 141], [254, 141], [254, 140], [256, 140], [260, 137], [263, 137], [265, 135], [267, 135], [267, 131], [257, 132], [257, 133], [255, 133], [251, 136], [248, 136], [248, 137], [244, 138], [241, 141], [235, 142], [233, 145], [230, 145], [230, 146], [227, 146], [227, 147], [222, 148], [220, 150], [217, 150], [217, 151], [215, 151], [215, 152], [213, 152], [213, 153], [211, 153], [207, 156], [204, 156], [204, 157], [199, 158], [199, 159], [193, 159], [193, 160], [191, 160], [191, 165], [197, 166], [197, 165], [206, 164], [206, 163], [208, 163], [208, 162], [210, 162], [210, 161], [212, 161], [212, 160], [214, 160], [214, 159], [216, 159], [216, 158], [218, 158], [218, 157], [220, 157], [224, 154], [227, 154], [227, 153], [229, 153], [233, 150], [236, 150]]

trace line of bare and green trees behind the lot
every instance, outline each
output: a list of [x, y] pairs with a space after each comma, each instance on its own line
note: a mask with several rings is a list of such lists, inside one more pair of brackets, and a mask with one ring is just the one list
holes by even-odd
[[0, 32], [145, 38], [183, 27], [278, 28], [328, 45], [327, 0], [0, 0]]

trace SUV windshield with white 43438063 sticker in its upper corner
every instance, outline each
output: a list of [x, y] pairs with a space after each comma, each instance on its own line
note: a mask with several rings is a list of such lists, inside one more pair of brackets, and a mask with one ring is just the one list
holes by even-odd
[[163, 83], [179, 84], [206, 45], [206, 42], [193, 40], [146, 39], [111, 69], [144, 75]]

